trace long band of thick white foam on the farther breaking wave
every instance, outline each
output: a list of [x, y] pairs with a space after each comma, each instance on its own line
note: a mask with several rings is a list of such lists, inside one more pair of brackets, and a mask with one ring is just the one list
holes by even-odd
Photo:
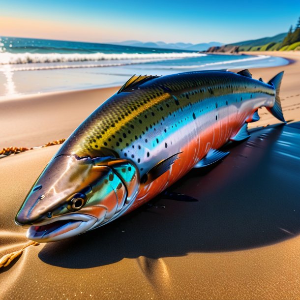
[[97, 61], [97, 60], [161, 60], [182, 59], [206, 56], [202, 53], [93, 53], [93, 54], [61, 54], [61, 53], [0, 53], [0, 64], [22, 64], [22, 63], [45, 63], [45, 62], [69, 62], [69, 61]]

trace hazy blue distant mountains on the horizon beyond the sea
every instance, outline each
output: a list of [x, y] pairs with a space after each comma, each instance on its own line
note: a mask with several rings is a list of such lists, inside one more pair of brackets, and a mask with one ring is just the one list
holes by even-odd
[[112, 43], [114, 45], [122, 46], [134, 46], [134, 47], [146, 47], [146, 48], [163, 48], [163, 49], [174, 49], [174, 50], [189, 50], [189, 51], [205, 51], [212, 46], [222, 46], [219, 42], [192, 44], [192, 43], [165, 43], [159, 42], [141, 42], [137, 40], [128, 40], [123, 42]]

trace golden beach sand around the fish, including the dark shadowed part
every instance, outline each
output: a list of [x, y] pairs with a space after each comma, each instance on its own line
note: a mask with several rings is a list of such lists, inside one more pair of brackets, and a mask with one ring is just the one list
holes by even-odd
[[[272, 125], [260, 110], [248, 141], [173, 187], [199, 202], [158, 198], [106, 227], [26, 248], [0, 269], [0, 299], [300, 299], [300, 53], [272, 55], [295, 62], [251, 73], [267, 81], [285, 70], [280, 95], [293, 122]], [[116, 90], [2, 101], [0, 148], [66, 138]], [[14, 217], [59, 147], [0, 159], [0, 257], [28, 242]]]

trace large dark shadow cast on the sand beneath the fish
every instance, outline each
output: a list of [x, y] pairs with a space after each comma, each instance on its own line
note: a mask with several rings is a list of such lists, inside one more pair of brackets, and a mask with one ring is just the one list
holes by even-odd
[[184, 256], [277, 243], [300, 233], [300, 122], [253, 130], [214, 168], [192, 170], [163, 197], [86, 234], [48, 243], [39, 258], [71, 269], [123, 258]]

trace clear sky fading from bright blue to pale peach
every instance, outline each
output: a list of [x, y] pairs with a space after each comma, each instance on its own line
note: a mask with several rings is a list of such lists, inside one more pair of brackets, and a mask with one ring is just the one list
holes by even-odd
[[0, 0], [0, 36], [232, 43], [287, 32], [299, 17], [300, 0]]

